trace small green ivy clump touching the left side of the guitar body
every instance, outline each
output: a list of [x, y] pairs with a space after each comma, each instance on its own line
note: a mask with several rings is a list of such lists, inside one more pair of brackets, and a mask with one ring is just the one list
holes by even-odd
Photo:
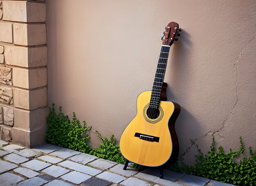
[[96, 131], [101, 139], [101, 145], [98, 148], [94, 148], [91, 150], [90, 155], [97, 156], [99, 158], [108, 159], [110, 161], [115, 161], [119, 164], [124, 164], [126, 160], [121, 155], [119, 146], [117, 142], [114, 140], [114, 135], [112, 134], [110, 139], [103, 138], [101, 134]]

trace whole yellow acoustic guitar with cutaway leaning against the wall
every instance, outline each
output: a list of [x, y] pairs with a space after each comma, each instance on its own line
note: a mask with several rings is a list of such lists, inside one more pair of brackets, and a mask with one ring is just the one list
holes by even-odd
[[122, 155], [128, 161], [142, 166], [158, 167], [171, 164], [179, 155], [174, 124], [180, 113], [180, 105], [161, 100], [169, 50], [177, 36], [180, 36], [179, 31], [181, 30], [176, 22], [167, 25], [162, 37], [153, 88], [137, 97], [137, 114], [120, 138]]

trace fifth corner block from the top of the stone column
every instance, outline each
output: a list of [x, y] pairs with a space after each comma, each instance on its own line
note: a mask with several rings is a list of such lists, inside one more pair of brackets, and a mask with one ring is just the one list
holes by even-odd
[[47, 88], [39, 90], [13, 90], [14, 106], [27, 110], [36, 109], [47, 105]]

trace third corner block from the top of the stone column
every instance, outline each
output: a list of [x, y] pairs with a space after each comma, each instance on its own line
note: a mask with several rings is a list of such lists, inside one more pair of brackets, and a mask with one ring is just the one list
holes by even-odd
[[41, 67], [47, 65], [47, 47], [4, 47], [7, 65], [18, 67]]

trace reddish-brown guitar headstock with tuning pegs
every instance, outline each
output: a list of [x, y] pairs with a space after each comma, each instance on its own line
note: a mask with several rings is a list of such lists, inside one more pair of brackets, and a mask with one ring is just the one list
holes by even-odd
[[177, 41], [180, 36], [180, 27], [177, 22], [169, 22], [169, 24], [165, 27], [165, 31], [163, 32], [162, 42], [163, 45], [172, 45], [173, 41]]

